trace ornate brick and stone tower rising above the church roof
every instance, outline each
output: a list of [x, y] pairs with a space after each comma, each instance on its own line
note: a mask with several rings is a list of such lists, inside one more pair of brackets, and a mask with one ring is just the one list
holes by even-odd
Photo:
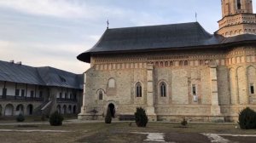
[[252, 0], [221, 0], [222, 20], [218, 21], [217, 33], [224, 37], [256, 34], [256, 14]]

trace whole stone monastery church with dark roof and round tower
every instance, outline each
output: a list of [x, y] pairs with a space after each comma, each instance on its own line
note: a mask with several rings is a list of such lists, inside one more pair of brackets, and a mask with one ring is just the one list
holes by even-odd
[[[236, 121], [256, 110], [256, 14], [252, 0], [222, 0], [219, 29], [198, 22], [108, 28], [79, 54], [84, 73], [79, 119], [118, 119], [142, 106], [151, 121]], [[94, 112], [93, 112], [94, 111]]]

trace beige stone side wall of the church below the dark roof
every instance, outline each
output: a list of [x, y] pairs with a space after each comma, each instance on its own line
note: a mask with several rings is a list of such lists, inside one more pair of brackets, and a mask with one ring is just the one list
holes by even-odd
[[[213, 103], [218, 103], [220, 108], [218, 116], [227, 120], [236, 119], [245, 106], [256, 108], [256, 96], [248, 91], [250, 86], [255, 88], [256, 83], [256, 57], [252, 47], [96, 57], [86, 72], [84, 112], [90, 114], [96, 109], [99, 118], [104, 117], [110, 103], [115, 106], [117, 116], [131, 115], [137, 106], [147, 108], [148, 64], [154, 65], [152, 100], [158, 120], [175, 121], [187, 117], [209, 121], [216, 116], [212, 116], [212, 108], [216, 107]], [[212, 97], [211, 70], [214, 69], [217, 101]], [[137, 83], [142, 85], [142, 97], [136, 96]], [[166, 84], [165, 97], [160, 95], [161, 83]]]

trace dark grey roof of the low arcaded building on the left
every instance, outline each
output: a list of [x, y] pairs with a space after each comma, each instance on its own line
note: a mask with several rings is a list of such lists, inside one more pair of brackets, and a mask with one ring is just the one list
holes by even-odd
[[32, 67], [1, 60], [0, 81], [83, 89], [83, 75], [49, 66]]

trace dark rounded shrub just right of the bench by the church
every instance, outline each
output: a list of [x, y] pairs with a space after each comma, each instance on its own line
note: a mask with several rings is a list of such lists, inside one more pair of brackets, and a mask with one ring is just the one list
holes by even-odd
[[137, 107], [135, 115], [135, 122], [137, 127], [146, 127], [148, 123], [148, 117], [145, 110], [142, 107]]

